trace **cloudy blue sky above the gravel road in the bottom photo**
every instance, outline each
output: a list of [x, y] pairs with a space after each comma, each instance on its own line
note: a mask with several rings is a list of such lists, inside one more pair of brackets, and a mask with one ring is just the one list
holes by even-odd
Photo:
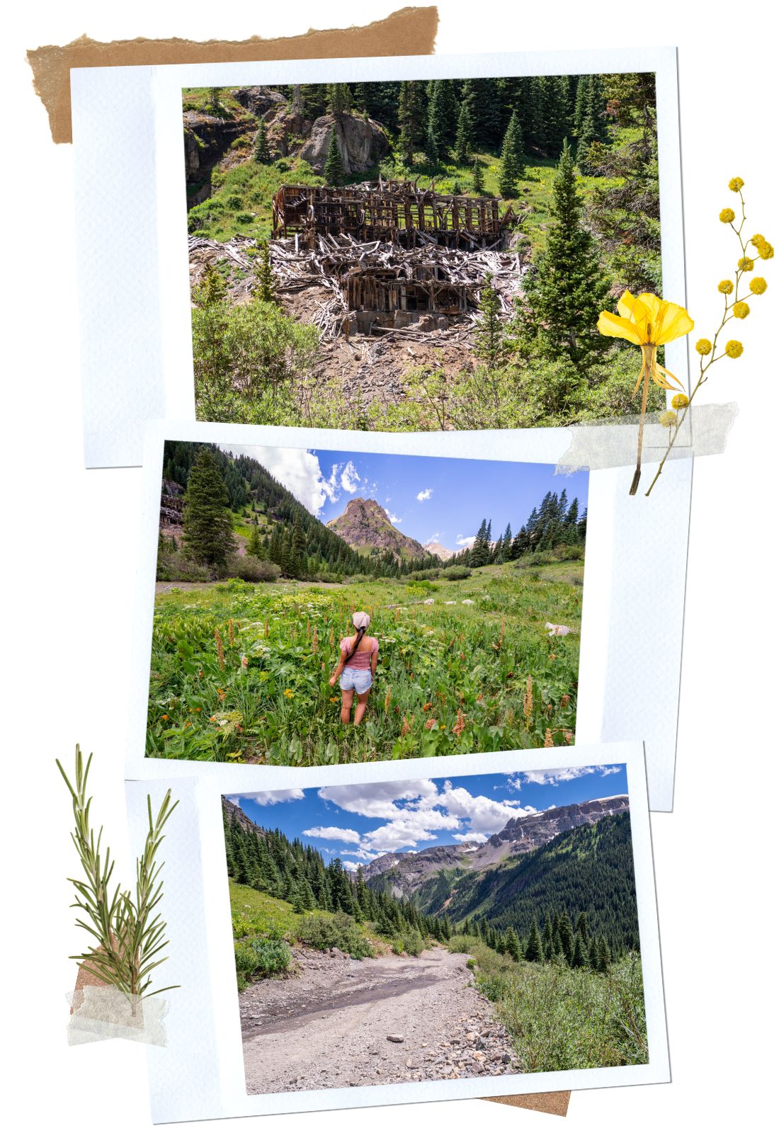
[[627, 794], [624, 764], [228, 795], [258, 826], [356, 870], [382, 853], [485, 842], [511, 818]]

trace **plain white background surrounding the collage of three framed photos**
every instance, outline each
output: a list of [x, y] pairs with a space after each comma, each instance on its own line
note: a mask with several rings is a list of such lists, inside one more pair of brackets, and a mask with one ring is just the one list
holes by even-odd
[[[95, 39], [282, 35], [387, 15], [391, 2], [294, 6], [18, 6], [2, 60], [2, 281], [6, 374], [2, 484], [5, 587], [3, 1117], [14, 1128], [138, 1133], [149, 1128], [145, 1054], [129, 1043], [69, 1049], [65, 995], [83, 942], [67, 905], [69, 813], [55, 756], [94, 749], [99, 816], [125, 829], [125, 702], [140, 499], [137, 469], [83, 468], [71, 151], [53, 146], [26, 48]], [[779, 246], [776, 78], [765, 3], [678, 0], [609, 7], [442, 0], [439, 52], [679, 48], [687, 300], [697, 332], [719, 309], [733, 245], [717, 215], [727, 181], [747, 182], [750, 227]], [[731, 236], [730, 236], [731, 239]], [[764, 1127], [773, 1106], [776, 1003], [770, 897], [776, 875], [776, 480], [779, 272], [743, 326], [742, 359], [720, 363], [704, 397], [741, 416], [724, 457], [700, 460], [693, 486], [675, 812], [653, 819], [674, 1082], [575, 1093], [567, 1126], [546, 1115], [462, 1101], [402, 1111], [323, 1114], [320, 1133], [404, 1123], [488, 1121], [575, 1133], [701, 1123]], [[773, 471], [774, 461], [771, 461]], [[661, 506], [660, 493], [653, 497]], [[664, 617], [658, 608], [657, 616]], [[636, 689], [640, 697], [642, 690]], [[127, 874], [126, 846], [112, 838]], [[246, 1118], [240, 1128], [300, 1133], [311, 1118]], [[226, 1128], [214, 1123], [208, 1128]], [[178, 1126], [197, 1130], [197, 1125]], [[200, 1126], [202, 1128], [203, 1126]], [[234, 1123], [233, 1123], [234, 1127]]]

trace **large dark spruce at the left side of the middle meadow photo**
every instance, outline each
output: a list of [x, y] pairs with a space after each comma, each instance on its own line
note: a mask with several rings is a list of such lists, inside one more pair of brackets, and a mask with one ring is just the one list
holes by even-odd
[[216, 459], [205, 445], [195, 458], [183, 495], [183, 542], [198, 563], [226, 568], [234, 551], [228, 491]]

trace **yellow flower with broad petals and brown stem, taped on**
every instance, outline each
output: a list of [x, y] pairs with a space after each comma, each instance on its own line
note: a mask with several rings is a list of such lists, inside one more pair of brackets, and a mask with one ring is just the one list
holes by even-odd
[[671, 381], [679, 389], [682, 387], [679, 380], [657, 360], [658, 347], [688, 334], [695, 324], [684, 307], [679, 307], [675, 303], [666, 303], [650, 292], [642, 292], [635, 297], [630, 291], [625, 291], [617, 304], [617, 310], [618, 315], [613, 315], [609, 310], [601, 312], [598, 318], [598, 330], [601, 334], [626, 339], [641, 347], [641, 370], [633, 390], [633, 397], [635, 397], [643, 382], [635, 475], [630, 489], [631, 495], [635, 495], [641, 478], [641, 448], [650, 378], [664, 390], [673, 390]]

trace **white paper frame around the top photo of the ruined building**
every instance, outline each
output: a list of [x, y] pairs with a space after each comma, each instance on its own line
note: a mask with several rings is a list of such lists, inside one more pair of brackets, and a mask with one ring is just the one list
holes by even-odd
[[[138, 465], [146, 420], [195, 417], [183, 87], [322, 83], [334, 76], [340, 82], [358, 82], [619, 71], [656, 75], [664, 290], [684, 303], [674, 48], [74, 69], [87, 468]], [[684, 381], [684, 342], [669, 343], [666, 350], [669, 368]], [[571, 429], [554, 432], [558, 436], [556, 460], [568, 448]]]

